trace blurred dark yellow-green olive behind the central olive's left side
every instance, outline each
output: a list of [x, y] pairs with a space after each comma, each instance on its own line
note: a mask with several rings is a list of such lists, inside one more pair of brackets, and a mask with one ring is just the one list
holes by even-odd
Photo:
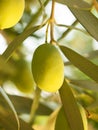
[[[7, 76], [11, 80], [15, 87], [24, 94], [31, 94], [34, 92], [36, 86], [34, 78], [32, 77], [31, 68], [29, 63], [22, 56], [17, 58], [11, 58], [10, 63], [15, 68], [13, 75]], [[8, 80], [8, 79], [7, 79]]]

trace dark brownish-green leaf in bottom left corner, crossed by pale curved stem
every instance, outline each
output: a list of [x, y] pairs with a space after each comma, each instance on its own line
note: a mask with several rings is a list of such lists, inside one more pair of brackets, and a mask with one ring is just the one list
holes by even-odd
[[[16, 114], [15, 110], [10, 103], [10, 99], [8, 99], [7, 95], [1, 91], [0, 93], [0, 130], [33, 130], [31, 126], [29, 126], [24, 121], [20, 120]], [[17, 120], [19, 122], [17, 122]], [[19, 123], [19, 124], [17, 124]]]

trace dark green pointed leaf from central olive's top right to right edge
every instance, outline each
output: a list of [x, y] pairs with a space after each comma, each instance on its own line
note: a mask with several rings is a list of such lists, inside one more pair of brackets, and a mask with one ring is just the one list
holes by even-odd
[[76, 53], [72, 49], [60, 46], [62, 52], [65, 57], [67, 57], [70, 62], [75, 65], [78, 69], [80, 69], [83, 73], [89, 76], [91, 79], [98, 82], [98, 66], [93, 64], [88, 59], [84, 58], [80, 54]]

